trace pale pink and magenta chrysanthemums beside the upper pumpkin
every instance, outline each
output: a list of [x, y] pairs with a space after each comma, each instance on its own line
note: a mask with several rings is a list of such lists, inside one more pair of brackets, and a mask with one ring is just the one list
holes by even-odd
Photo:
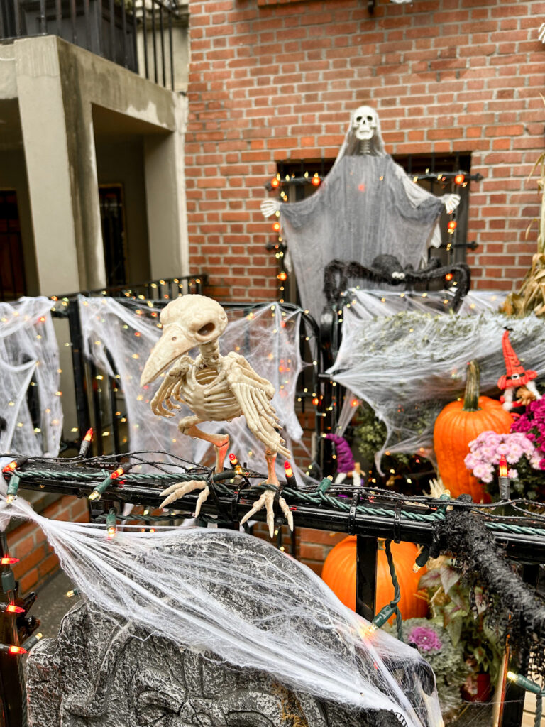
[[[530, 406], [541, 401], [532, 402]], [[538, 428], [537, 422], [533, 423], [533, 418], [525, 419], [528, 417], [527, 414], [523, 414], [514, 423], [509, 434], [480, 433], [476, 439], [469, 442], [469, 454], [464, 459], [466, 467], [473, 471], [477, 480], [487, 485], [495, 485], [495, 474], [500, 457], [503, 455], [511, 465], [509, 478], [512, 480], [514, 490], [529, 499], [537, 499], [545, 479], [541, 474], [545, 469], [545, 409], [542, 409], [542, 414], [543, 433], [539, 435], [533, 432], [534, 428]], [[522, 419], [524, 421], [521, 424]], [[527, 425], [528, 428], [525, 429]], [[536, 444], [539, 446], [543, 444], [544, 450], [538, 449]], [[491, 494], [495, 494], [497, 487], [491, 486], [488, 490]]]

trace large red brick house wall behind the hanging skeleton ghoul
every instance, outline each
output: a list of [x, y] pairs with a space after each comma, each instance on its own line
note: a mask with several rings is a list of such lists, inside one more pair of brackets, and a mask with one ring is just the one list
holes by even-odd
[[544, 148], [538, 0], [206, 0], [190, 3], [186, 142], [192, 269], [211, 294], [277, 294], [259, 202], [276, 162], [336, 156], [350, 110], [379, 111], [392, 154], [472, 153], [477, 288], [512, 289], [535, 251]]

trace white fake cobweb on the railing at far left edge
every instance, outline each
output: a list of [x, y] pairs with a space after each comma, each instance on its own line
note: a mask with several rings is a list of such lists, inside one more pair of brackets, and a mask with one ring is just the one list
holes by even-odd
[[46, 297], [0, 303], [0, 451], [59, 451], [59, 349]]

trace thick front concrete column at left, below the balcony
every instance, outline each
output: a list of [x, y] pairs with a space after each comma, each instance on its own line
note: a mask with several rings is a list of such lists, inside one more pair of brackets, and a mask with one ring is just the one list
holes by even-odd
[[[90, 103], [54, 36], [14, 44], [17, 93], [42, 294], [105, 284]], [[66, 64], [65, 64], [66, 65]]]

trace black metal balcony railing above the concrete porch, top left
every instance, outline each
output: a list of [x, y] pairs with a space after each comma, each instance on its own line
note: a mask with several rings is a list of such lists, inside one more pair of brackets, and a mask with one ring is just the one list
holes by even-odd
[[173, 90], [181, 25], [177, 0], [0, 0], [0, 41], [56, 35]]

